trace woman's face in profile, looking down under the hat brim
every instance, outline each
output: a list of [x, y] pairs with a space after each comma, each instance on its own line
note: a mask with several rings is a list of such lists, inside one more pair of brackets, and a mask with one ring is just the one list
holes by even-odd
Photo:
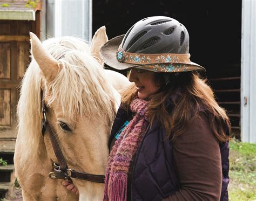
[[132, 69], [130, 71], [129, 81], [134, 82], [140, 99], [149, 98], [156, 94], [160, 88], [155, 81], [156, 73], [152, 71]]

